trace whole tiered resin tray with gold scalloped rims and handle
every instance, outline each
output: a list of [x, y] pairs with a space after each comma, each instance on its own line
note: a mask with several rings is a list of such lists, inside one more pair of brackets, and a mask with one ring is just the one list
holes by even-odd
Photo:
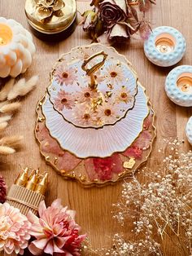
[[155, 113], [132, 65], [112, 47], [78, 46], [57, 61], [37, 104], [46, 162], [85, 186], [114, 183], [151, 153]]

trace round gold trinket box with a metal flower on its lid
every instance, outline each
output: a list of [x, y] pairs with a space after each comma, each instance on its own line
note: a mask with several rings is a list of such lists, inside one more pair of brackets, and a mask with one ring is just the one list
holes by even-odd
[[76, 28], [76, 0], [26, 0], [25, 14], [43, 40], [67, 38]]

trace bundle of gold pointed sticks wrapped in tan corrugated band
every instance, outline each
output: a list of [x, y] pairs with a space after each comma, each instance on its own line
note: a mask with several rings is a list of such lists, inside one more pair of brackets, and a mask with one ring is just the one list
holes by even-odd
[[11, 186], [7, 202], [20, 209], [22, 214], [27, 215], [31, 210], [37, 214], [38, 205], [45, 200], [48, 174], [40, 174], [39, 170], [25, 168], [20, 172], [15, 183]]

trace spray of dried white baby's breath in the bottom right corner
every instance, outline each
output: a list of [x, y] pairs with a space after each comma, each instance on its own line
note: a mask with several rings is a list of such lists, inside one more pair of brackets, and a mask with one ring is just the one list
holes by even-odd
[[130, 230], [116, 233], [111, 249], [92, 249], [91, 255], [165, 256], [170, 241], [172, 254], [192, 256], [192, 151], [180, 152], [178, 139], [164, 143], [166, 147], [159, 149], [164, 161], [154, 158], [153, 168], [139, 172], [145, 183], [136, 176], [125, 181], [120, 200], [113, 205], [113, 218], [120, 226], [133, 224], [132, 236]]

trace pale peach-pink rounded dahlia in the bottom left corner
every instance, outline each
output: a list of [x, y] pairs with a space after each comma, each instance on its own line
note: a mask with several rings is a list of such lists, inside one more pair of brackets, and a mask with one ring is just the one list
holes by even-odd
[[0, 251], [23, 255], [28, 247], [30, 227], [28, 218], [19, 209], [8, 203], [0, 204]]

